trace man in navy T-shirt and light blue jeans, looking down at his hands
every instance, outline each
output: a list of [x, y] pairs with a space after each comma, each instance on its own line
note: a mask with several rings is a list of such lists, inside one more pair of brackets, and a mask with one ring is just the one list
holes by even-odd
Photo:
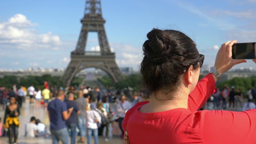
[[56, 99], [52, 100], [47, 108], [53, 144], [59, 144], [59, 140], [62, 144], [70, 144], [65, 120], [71, 116], [73, 109], [67, 109], [66, 103], [62, 100], [64, 100], [64, 91], [59, 90]]

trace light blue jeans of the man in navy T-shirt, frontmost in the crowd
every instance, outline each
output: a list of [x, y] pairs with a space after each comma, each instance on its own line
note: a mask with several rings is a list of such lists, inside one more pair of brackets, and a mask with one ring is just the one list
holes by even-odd
[[62, 128], [60, 130], [51, 130], [52, 144], [59, 144], [59, 140], [62, 144], [70, 144], [70, 138], [68, 135], [67, 128]]

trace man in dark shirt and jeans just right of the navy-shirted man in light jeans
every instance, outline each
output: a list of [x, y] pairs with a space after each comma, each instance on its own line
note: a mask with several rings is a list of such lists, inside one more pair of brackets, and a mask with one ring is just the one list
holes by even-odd
[[68, 94], [68, 100], [65, 101], [67, 104], [67, 108], [72, 108], [71, 116], [66, 120], [66, 126], [68, 132], [70, 130], [69, 135], [71, 136], [71, 144], [76, 144], [76, 126], [77, 126], [77, 114], [80, 113], [80, 110], [77, 104], [74, 102], [74, 94], [70, 92]]

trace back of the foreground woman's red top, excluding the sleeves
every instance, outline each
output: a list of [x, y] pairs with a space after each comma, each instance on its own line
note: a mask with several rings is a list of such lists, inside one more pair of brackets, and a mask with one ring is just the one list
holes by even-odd
[[[165, 112], [142, 113], [141, 106], [147, 102], [138, 103], [128, 121], [128, 136], [131, 144], [166, 144], [199, 142], [198, 128], [193, 126], [191, 112], [185, 108], [177, 108]], [[194, 128], [193, 128], [194, 127]], [[194, 141], [188, 141], [192, 138]]]

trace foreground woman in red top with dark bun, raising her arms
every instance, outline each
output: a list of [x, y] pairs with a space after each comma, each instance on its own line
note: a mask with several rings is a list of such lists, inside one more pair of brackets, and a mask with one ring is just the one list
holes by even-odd
[[198, 82], [204, 56], [188, 36], [153, 29], [147, 37], [140, 72], [151, 99], [126, 112], [122, 127], [127, 128], [130, 144], [256, 143], [256, 110], [197, 111], [214, 92], [220, 75], [246, 62], [232, 59], [236, 40], [222, 44], [215, 68]]

